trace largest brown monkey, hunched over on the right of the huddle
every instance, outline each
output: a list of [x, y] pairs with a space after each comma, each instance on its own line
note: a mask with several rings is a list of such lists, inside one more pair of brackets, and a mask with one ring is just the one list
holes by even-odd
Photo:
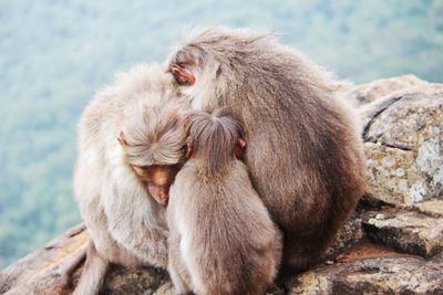
[[321, 252], [364, 189], [364, 157], [340, 84], [272, 34], [212, 28], [168, 61], [194, 109], [229, 106], [245, 127], [245, 162], [284, 231], [284, 270]]

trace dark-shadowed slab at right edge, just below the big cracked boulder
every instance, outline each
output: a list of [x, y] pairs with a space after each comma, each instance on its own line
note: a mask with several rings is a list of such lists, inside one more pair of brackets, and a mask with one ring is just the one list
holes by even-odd
[[443, 219], [409, 211], [370, 212], [368, 238], [396, 251], [429, 259], [443, 251]]

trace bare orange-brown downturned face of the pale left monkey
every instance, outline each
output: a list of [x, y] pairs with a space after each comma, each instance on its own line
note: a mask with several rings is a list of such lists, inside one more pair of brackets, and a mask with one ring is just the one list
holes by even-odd
[[183, 164], [171, 166], [135, 166], [132, 169], [146, 183], [151, 196], [162, 206], [167, 204], [169, 187]]

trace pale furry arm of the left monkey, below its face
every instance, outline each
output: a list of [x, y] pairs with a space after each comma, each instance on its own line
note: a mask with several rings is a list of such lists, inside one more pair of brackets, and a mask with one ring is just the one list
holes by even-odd
[[[109, 232], [145, 263], [166, 267], [167, 230], [161, 209], [125, 167], [114, 169], [102, 187]], [[163, 221], [163, 222], [162, 222]]]

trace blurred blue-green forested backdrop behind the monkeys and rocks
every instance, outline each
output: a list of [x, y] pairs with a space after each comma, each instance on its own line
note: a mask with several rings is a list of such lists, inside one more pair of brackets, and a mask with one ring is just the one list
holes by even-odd
[[0, 0], [0, 268], [80, 222], [75, 125], [95, 89], [212, 24], [280, 32], [356, 83], [443, 82], [443, 0]]

